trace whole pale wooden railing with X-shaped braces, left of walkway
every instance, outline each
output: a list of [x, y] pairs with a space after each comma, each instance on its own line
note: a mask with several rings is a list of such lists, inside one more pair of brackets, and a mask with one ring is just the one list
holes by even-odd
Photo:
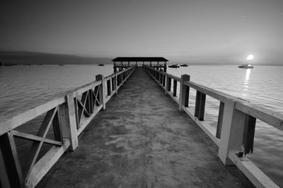
[[[136, 67], [108, 77], [96, 75], [96, 81], [0, 123], [0, 187], [35, 187], [67, 149], [77, 147], [79, 134], [100, 109], [105, 109]], [[45, 116], [36, 135], [15, 130], [42, 114]], [[54, 139], [47, 138], [50, 129]], [[18, 158], [15, 138], [32, 142], [23, 164]], [[43, 144], [52, 147], [40, 156]]]

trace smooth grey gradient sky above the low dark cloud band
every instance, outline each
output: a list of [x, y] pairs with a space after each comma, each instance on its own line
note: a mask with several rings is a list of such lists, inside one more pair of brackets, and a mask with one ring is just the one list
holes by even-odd
[[0, 51], [283, 65], [282, 0], [1, 0], [0, 27]]

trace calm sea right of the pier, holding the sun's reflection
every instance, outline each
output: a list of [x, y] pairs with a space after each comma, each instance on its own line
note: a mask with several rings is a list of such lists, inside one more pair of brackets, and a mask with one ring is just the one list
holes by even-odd
[[[206, 87], [231, 94], [283, 114], [283, 66], [255, 66], [240, 69], [235, 65], [191, 65], [178, 69], [168, 68], [169, 74], [180, 77], [189, 74], [190, 80]], [[195, 91], [190, 89], [195, 105]], [[204, 119], [216, 127], [219, 101], [207, 97]], [[256, 122], [255, 143], [248, 154], [265, 174], [283, 187], [283, 132], [262, 121]]]

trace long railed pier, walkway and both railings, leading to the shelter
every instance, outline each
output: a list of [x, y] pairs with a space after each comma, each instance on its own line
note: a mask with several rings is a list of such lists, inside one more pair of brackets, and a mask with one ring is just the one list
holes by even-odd
[[[219, 100], [216, 128], [206, 95]], [[17, 129], [41, 114], [36, 136]], [[281, 114], [189, 75], [129, 66], [1, 123], [0, 187], [278, 187], [245, 157], [257, 118], [283, 130]], [[33, 142], [25, 162], [15, 138]], [[43, 143], [52, 147], [39, 157]]]

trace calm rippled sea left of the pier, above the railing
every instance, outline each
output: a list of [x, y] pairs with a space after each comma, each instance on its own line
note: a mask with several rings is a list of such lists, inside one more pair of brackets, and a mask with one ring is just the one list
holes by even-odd
[[0, 117], [11, 118], [96, 79], [110, 75], [111, 65], [18, 65], [0, 67]]

